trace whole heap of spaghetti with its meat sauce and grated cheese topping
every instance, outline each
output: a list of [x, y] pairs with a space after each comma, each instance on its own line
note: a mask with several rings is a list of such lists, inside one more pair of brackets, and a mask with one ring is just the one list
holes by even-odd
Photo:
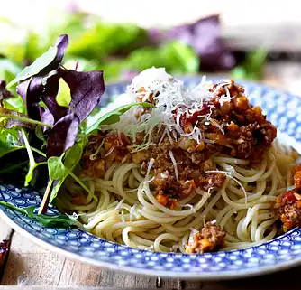
[[296, 154], [274, 141], [242, 87], [202, 80], [187, 91], [153, 68], [127, 95], [156, 107], [100, 128], [78, 169], [89, 193], [65, 182], [60, 210], [102, 239], [155, 251], [245, 248], [278, 235], [273, 205]]

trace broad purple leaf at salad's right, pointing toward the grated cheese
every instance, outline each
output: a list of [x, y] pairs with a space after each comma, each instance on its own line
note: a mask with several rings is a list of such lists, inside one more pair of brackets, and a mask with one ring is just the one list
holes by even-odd
[[78, 115], [80, 123], [92, 112], [105, 92], [103, 70], [82, 72], [59, 70], [71, 93], [70, 107]]

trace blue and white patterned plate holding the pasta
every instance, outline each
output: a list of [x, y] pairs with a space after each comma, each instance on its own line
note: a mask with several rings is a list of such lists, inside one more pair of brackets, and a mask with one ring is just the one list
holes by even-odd
[[[198, 77], [185, 80], [187, 86]], [[103, 104], [124, 92], [124, 83], [106, 86]], [[301, 98], [259, 84], [242, 82], [251, 104], [259, 105], [269, 120], [278, 127], [290, 145], [301, 153]], [[0, 184], [0, 200], [24, 207], [41, 203], [29, 188]], [[58, 211], [50, 206], [48, 214]], [[85, 232], [82, 229], [50, 229], [14, 210], [0, 206], [0, 217], [15, 230], [35, 243], [79, 261], [116, 271], [148, 276], [185, 279], [217, 279], [254, 276], [301, 265], [301, 229], [256, 247], [221, 251], [204, 255], [158, 253], [124, 247]]]

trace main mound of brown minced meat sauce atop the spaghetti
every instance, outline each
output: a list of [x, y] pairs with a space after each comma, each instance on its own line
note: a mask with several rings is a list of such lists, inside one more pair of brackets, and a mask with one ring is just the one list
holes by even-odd
[[[157, 145], [132, 152], [133, 144], [129, 137], [113, 132], [100, 132], [87, 146], [83, 159], [84, 173], [103, 177], [105, 170], [114, 161], [147, 164], [153, 158], [151, 173], [154, 179], [150, 182], [150, 187], [157, 192], [156, 200], [160, 204], [173, 209], [179, 200], [196, 188], [208, 191], [223, 186], [226, 179], [223, 173], [206, 173], [216, 169], [211, 160], [213, 154], [229, 154], [235, 158], [248, 159], [251, 163], [260, 162], [262, 154], [276, 137], [275, 126], [266, 120], [259, 107], [249, 104], [242, 86], [234, 84], [233, 80], [220, 89], [216, 89], [216, 86], [211, 89], [214, 97], [204, 101], [203, 108], [188, 117], [180, 117], [180, 126], [185, 133], [192, 132], [195, 126], [203, 132], [204, 138], [199, 144], [188, 136], [177, 136], [178, 140], [173, 140], [172, 143], [168, 136], [160, 140], [165, 128], [158, 128], [158, 132], [153, 133], [153, 140], [156, 140]], [[221, 102], [226, 94], [230, 94], [231, 99]], [[174, 114], [176, 118], [177, 112]], [[104, 148], [91, 160], [90, 155], [96, 152], [104, 138]], [[135, 143], [142, 138], [140, 135]], [[176, 161], [178, 176], [170, 154]]]

